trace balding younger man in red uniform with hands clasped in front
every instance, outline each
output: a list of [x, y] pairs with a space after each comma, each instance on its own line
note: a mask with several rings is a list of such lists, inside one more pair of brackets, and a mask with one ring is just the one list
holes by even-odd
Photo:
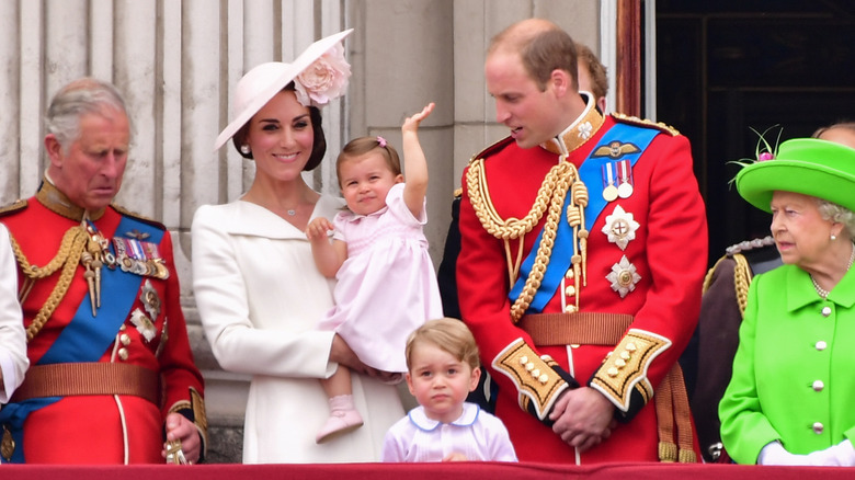
[[464, 172], [457, 283], [520, 459], [696, 461], [676, 366], [707, 263], [688, 140], [604, 117], [548, 21], [494, 37], [485, 72], [511, 136]]

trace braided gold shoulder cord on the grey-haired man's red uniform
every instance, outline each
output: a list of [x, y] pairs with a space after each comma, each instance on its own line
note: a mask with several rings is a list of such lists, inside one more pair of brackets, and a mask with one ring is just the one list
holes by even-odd
[[26, 276], [24, 285], [21, 286], [21, 292], [19, 294], [21, 304], [23, 304], [27, 295], [30, 295], [30, 290], [33, 288], [35, 281], [46, 278], [60, 267], [62, 268], [62, 272], [59, 274], [59, 279], [54, 287], [54, 292], [50, 293], [50, 296], [47, 298], [47, 301], [45, 301], [45, 305], [38, 310], [33, 322], [26, 328], [26, 341], [30, 342], [38, 334], [42, 327], [44, 327], [47, 319], [50, 318], [56, 307], [62, 300], [62, 297], [66, 296], [68, 287], [71, 285], [71, 278], [77, 270], [77, 263], [80, 261], [80, 255], [86, 249], [89, 236], [87, 235], [86, 228], [81, 226], [69, 228], [62, 237], [62, 242], [59, 245], [59, 251], [56, 256], [43, 267], [31, 265], [11, 232], [9, 233], [9, 238], [11, 239], [12, 250], [14, 251], [15, 259], [18, 259], [18, 264], [21, 265], [21, 272]]

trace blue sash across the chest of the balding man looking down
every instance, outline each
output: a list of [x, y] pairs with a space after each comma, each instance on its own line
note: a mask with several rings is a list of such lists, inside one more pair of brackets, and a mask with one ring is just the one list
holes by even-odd
[[[603, 195], [600, 194], [600, 190], [597, 187], [592, 187], [592, 185], [600, 185], [602, 183], [603, 165], [607, 162], [617, 160], [608, 156], [596, 156], [597, 150], [603, 147], [608, 148], [609, 144], [613, 141], [635, 145], [638, 147], [635, 152], [625, 153], [619, 157], [620, 160], [629, 160], [630, 164], [635, 165], [645, 152], [645, 149], [647, 149], [650, 142], [653, 141], [653, 137], [658, 134], [659, 130], [654, 128], [643, 128], [617, 123], [603, 135], [603, 138], [600, 139], [600, 145], [594, 147], [588, 159], [582, 162], [582, 167], [579, 169], [579, 178], [582, 183], [589, 187], [589, 199], [588, 206], [585, 207], [585, 229], [588, 231], [591, 231], [597, 217], [600, 217], [600, 214], [608, 203], [603, 198]], [[546, 272], [544, 272], [540, 287], [537, 289], [526, 313], [536, 313], [544, 309], [546, 304], [549, 302], [558, 290], [558, 286], [561, 284], [561, 278], [563, 278], [565, 273], [570, 268], [571, 259], [575, 253], [575, 244], [573, 243], [573, 229], [570, 227], [570, 224], [567, 222], [566, 213], [571, 199], [571, 195], [568, 192], [562, 208], [565, 215], [558, 221], [558, 229], [552, 245], [552, 255], [549, 259]], [[532, 272], [532, 267], [537, 258], [537, 250], [543, 241], [543, 236], [544, 231], [540, 230], [532, 251], [528, 252], [528, 256], [525, 258], [525, 261], [523, 261], [523, 264], [520, 267], [520, 276], [516, 278], [516, 283], [508, 294], [508, 298], [510, 298], [512, 302], [516, 301], [523, 292], [525, 281], [528, 278], [528, 274]]]

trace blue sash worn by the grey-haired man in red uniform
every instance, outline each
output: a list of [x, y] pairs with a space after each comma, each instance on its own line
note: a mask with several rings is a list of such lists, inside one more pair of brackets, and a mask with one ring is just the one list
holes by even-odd
[[[130, 231], [148, 233], [146, 241], [160, 243], [164, 231], [135, 218], [122, 217], [114, 237], [124, 237]], [[114, 245], [111, 243], [111, 250]], [[115, 251], [113, 252], [115, 254]], [[101, 308], [98, 317], [92, 316], [89, 296], [75, 313], [75, 318], [57, 336], [56, 341], [38, 361], [38, 365], [69, 362], [98, 362], [110, 347], [119, 327], [127, 319], [130, 307], [137, 298], [142, 277], [122, 268], [101, 268]], [[61, 397], [32, 398], [9, 403], [0, 410], [0, 423], [5, 424], [15, 442], [13, 464], [24, 464], [24, 421], [31, 412], [61, 400]], [[2, 460], [0, 460], [2, 461]]]

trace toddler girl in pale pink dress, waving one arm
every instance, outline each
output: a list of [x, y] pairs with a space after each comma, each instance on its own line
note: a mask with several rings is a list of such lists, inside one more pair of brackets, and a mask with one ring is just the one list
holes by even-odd
[[[356, 138], [335, 163], [347, 210], [332, 222], [316, 218], [306, 229], [318, 270], [338, 279], [335, 307], [319, 328], [335, 330], [365, 365], [386, 373], [407, 372], [408, 335], [426, 320], [443, 317], [422, 231], [428, 164], [417, 134], [433, 107], [425, 106], [401, 127], [406, 182], [398, 153], [384, 138]], [[353, 407], [350, 370], [339, 365], [321, 381], [331, 412], [318, 443], [363, 424]]]

